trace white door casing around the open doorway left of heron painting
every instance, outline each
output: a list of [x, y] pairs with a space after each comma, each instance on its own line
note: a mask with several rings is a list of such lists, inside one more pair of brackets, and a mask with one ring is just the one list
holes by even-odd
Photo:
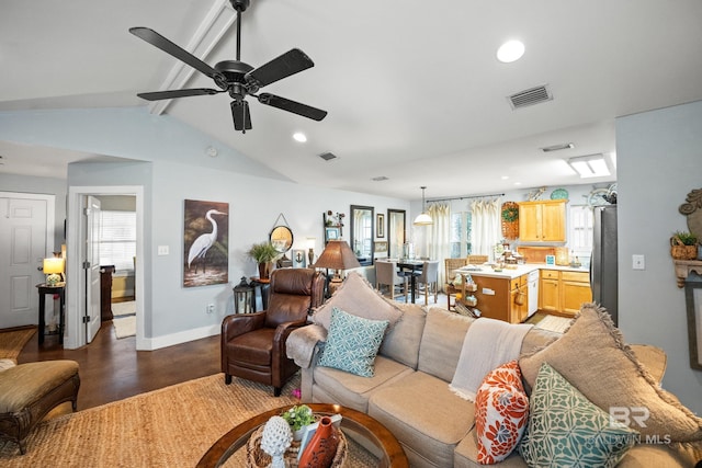
[[[100, 195], [131, 195], [135, 197], [136, 210], [136, 259], [135, 289], [146, 292], [144, 287], [144, 187], [140, 185], [115, 186], [69, 186], [68, 213], [67, 213], [67, 298], [66, 298], [66, 327], [67, 335], [64, 346], [77, 349], [88, 342], [83, 317], [86, 316], [84, 292], [87, 281], [83, 262], [86, 261], [86, 222], [82, 210], [87, 196]], [[145, 294], [136, 295], [136, 349], [146, 350], [145, 340]]]

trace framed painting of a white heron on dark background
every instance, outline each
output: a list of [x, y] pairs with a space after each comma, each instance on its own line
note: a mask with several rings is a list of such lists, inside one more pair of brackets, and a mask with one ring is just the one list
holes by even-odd
[[229, 282], [229, 204], [186, 199], [183, 286]]

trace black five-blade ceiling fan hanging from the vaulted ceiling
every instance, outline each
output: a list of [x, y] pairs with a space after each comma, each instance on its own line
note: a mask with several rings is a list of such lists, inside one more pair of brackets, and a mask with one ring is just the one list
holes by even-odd
[[327, 116], [327, 111], [312, 107], [299, 102], [291, 101], [274, 94], [260, 93], [256, 94], [259, 89], [271, 84], [291, 75], [298, 73], [307, 68], [312, 68], [315, 64], [307, 55], [298, 48], [293, 48], [285, 54], [272, 59], [258, 68], [253, 68], [244, 61], [240, 61], [241, 55], [241, 13], [249, 7], [250, 0], [229, 0], [231, 7], [237, 12], [237, 59], [224, 60], [213, 67], [208, 66], [188, 50], [173, 44], [156, 31], [148, 27], [131, 27], [129, 32], [137, 37], [146, 41], [155, 47], [160, 48], [167, 54], [172, 55], [177, 59], [190, 65], [201, 73], [212, 78], [219, 89], [212, 88], [193, 88], [172, 91], [156, 91], [147, 93], [137, 93], [137, 95], [147, 101], [159, 101], [163, 99], [185, 98], [191, 95], [219, 94], [229, 93], [234, 99], [231, 101], [231, 116], [234, 118], [234, 128], [236, 130], [251, 129], [251, 114], [249, 113], [249, 103], [246, 96], [250, 95], [261, 104], [270, 105], [313, 121], [321, 121]]

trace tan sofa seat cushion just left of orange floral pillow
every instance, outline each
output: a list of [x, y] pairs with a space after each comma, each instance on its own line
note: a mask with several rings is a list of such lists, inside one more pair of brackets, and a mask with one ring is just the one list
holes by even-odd
[[401, 443], [411, 466], [452, 466], [453, 450], [474, 425], [474, 404], [442, 379], [416, 372], [378, 388], [369, 415]]

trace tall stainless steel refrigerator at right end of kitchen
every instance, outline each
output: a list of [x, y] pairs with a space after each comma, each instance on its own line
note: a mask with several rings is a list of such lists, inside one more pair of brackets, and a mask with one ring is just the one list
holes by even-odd
[[607, 309], [619, 326], [618, 262], [616, 262], [616, 205], [596, 206], [590, 260], [590, 287], [592, 300]]

